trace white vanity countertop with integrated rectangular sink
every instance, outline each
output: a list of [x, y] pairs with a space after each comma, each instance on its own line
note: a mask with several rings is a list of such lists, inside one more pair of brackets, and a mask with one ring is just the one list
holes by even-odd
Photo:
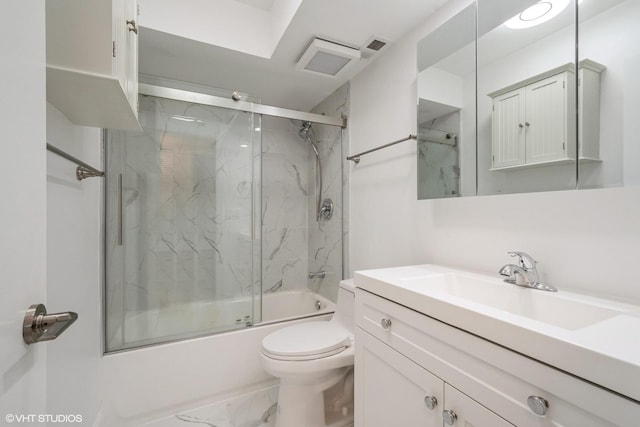
[[[445, 292], [438, 286], [429, 287], [429, 280], [452, 273], [489, 284], [496, 298], [502, 293], [517, 295], [517, 304], [499, 309]], [[555, 293], [523, 288], [506, 284], [497, 275], [437, 265], [357, 271], [354, 283], [358, 288], [640, 402], [640, 306], [565, 292], [558, 284], [554, 284], [559, 288]], [[547, 323], [519, 315], [517, 305], [530, 298], [548, 303], [545, 308], [552, 310], [550, 317], [556, 320]], [[556, 307], [561, 310], [565, 303], [586, 310], [593, 307], [594, 312], [602, 311], [605, 315], [602, 319], [596, 316], [585, 326], [579, 315], [555, 315], [553, 310]]]

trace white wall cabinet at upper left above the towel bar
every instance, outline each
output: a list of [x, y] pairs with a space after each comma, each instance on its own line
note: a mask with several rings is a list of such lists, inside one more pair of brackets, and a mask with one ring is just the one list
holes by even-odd
[[72, 123], [140, 129], [136, 0], [47, 0], [47, 101]]

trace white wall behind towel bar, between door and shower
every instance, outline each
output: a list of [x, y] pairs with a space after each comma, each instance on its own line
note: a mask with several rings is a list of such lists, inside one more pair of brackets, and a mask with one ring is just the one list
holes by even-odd
[[[71, 124], [50, 104], [47, 142], [102, 168], [100, 130]], [[91, 425], [101, 403], [103, 181], [78, 181], [75, 171], [75, 164], [47, 153], [47, 309], [78, 313], [46, 344], [47, 413], [78, 414]]]

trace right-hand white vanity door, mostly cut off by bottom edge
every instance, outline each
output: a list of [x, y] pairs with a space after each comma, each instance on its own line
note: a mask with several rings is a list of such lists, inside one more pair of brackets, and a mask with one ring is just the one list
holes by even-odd
[[514, 427], [449, 384], [444, 385], [444, 395], [444, 409], [456, 414], [457, 420], [453, 424], [456, 427]]

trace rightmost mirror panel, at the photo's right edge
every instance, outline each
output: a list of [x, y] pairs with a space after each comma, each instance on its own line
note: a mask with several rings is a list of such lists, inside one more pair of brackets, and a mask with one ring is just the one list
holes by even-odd
[[[596, 146], [597, 162], [580, 162], [580, 188], [640, 184], [640, 0], [579, 2], [579, 63], [601, 64], [594, 77], [579, 70], [581, 154]], [[589, 107], [597, 103], [599, 109]]]

